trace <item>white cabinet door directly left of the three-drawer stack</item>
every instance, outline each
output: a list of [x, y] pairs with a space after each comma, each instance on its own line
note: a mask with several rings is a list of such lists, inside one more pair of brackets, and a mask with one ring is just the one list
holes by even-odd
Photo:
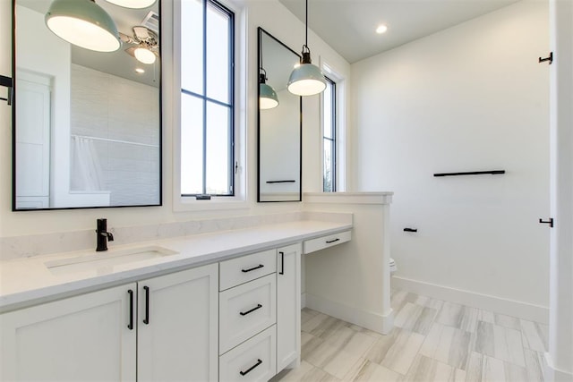
[[218, 379], [218, 264], [138, 283], [138, 381]]

